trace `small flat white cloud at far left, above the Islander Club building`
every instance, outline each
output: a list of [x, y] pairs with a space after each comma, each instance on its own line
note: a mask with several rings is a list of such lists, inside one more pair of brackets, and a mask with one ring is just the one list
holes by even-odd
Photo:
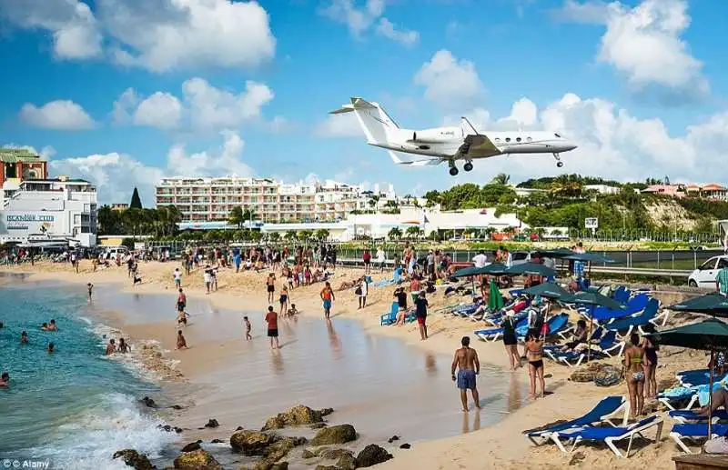
[[84, 108], [69, 100], [51, 101], [40, 107], [26, 103], [19, 116], [25, 124], [43, 129], [77, 131], [95, 125]]

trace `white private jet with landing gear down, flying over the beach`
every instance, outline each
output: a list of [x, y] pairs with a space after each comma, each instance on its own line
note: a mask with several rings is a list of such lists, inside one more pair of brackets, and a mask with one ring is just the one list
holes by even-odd
[[[424, 130], [402, 129], [378, 103], [352, 97], [351, 103], [331, 111], [331, 115], [354, 113], [359, 120], [367, 144], [385, 148], [398, 165], [429, 166], [447, 162], [450, 175], [458, 175], [456, 160], [464, 160], [463, 169], [472, 170], [472, 161], [510, 154], [551, 154], [556, 166], [563, 166], [561, 153], [577, 145], [560, 134], [544, 131], [479, 132], [462, 117], [460, 127], [434, 127]], [[395, 152], [425, 155], [428, 158], [403, 161]]]

